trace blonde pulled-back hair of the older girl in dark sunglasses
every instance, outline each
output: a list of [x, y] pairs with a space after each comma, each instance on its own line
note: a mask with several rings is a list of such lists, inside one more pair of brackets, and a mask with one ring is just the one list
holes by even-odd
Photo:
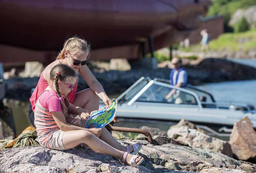
[[87, 59], [88, 59], [90, 57], [91, 46], [89, 42], [87, 42], [86, 40], [78, 36], [70, 37], [64, 42], [63, 48], [61, 52], [58, 54], [56, 59], [64, 59], [65, 50], [68, 50], [70, 53], [76, 53], [77, 51], [82, 50], [88, 53], [87, 55]]

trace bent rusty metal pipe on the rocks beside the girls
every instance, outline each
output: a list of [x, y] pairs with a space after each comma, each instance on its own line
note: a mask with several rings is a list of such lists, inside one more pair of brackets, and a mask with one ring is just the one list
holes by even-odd
[[155, 142], [154, 142], [152, 136], [146, 130], [142, 130], [142, 129], [138, 129], [138, 128], [129, 128], [129, 127], [116, 127], [116, 126], [112, 126], [111, 124], [110, 124], [110, 128], [111, 128], [112, 131], [141, 133], [141, 134], [145, 135], [148, 138], [149, 143], [155, 145]]

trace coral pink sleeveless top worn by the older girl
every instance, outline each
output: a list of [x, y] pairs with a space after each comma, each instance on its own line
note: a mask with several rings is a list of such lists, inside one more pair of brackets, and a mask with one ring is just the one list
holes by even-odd
[[[75, 99], [75, 95], [77, 92], [77, 83], [78, 80], [75, 83], [74, 89], [70, 91], [70, 93], [67, 95], [67, 98], [69, 100], [69, 103], [73, 103], [74, 99]], [[48, 82], [47, 80], [44, 78], [43, 76], [43, 72], [40, 75], [40, 79], [37, 83], [37, 86], [34, 90], [34, 92], [32, 93], [31, 97], [30, 97], [30, 102], [32, 105], [32, 110], [35, 112], [35, 107], [36, 107], [36, 101], [39, 98], [40, 94], [45, 90], [45, 88], [48, 86]]]

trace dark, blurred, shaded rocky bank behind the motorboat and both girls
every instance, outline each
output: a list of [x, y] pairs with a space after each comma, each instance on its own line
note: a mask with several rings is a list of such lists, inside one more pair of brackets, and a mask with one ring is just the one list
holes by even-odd
[[[188, 83], [200, 85], [208, 82], [251, 80], [256, 79], [256, 69], [250, 66], [230, 62], [225, 59], [207, 58], [197, 61], [195, 64], [184, 61], [188, 74]], [[159, 64], [161, 68], [156, 70], [132, 69], [132, 70], [102, 70], [92, 68], [94, 76], [102, 84], [108, 95], [120, 94], [130, 87], [141, 76], [150, 78], [169, 79], [170, 62]], [[7, 79], [6, 98], [28, 100], [31, 88], [36, 87], [39, 78], [14, 77]], [[78, 91], [88, 88], [86, 82], [79, 76]]]

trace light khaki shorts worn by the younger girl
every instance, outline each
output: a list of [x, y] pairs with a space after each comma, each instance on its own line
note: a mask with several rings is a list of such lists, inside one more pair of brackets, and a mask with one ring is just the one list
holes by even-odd
[[57, 130], [52, 134], [52, 138], [49, 140], [49, 148], [53, 150], [66, 150], [62, 143], [62, 136], [65, 131]]

